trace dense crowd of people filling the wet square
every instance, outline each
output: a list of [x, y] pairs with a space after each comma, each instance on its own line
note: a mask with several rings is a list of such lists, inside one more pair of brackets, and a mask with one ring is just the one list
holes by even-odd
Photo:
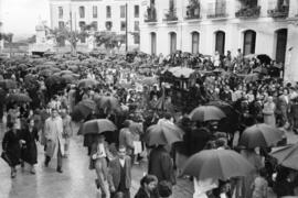
[[[2, 158], [17, 177], [17, 166], [30, 164], [35, 174], [38, 146], [44, 146], [44, 165], [57, 158], [57, 173], [70, 153], [73, 124], [98, 119], [111, 121], [113, 133], [84, 135], [89, 168], [103, 197], [130, 197], [131, 169], [148, 161], [136, 198], [170, 197], [177, 177], [183, 177], [185, 161], [202, 150], [234, 150], [254, 166], [247, 177], [194, 183], [193, 197], [295, 196], [297, 170], [279, 166], [269, 155], [273, 146], [286, 145], [288, 131], [298, 132], [298, 85], [285, 84], [280, 68], [265, 56], [233, 58], [178, 52], [171, 56], [70, 54], [45, 57], [12, 57], [1, 61], [0, 116], [7, 120]], [[180, 76], [161, 77], [171, 67]], [[184, 74], [184, 68], [193, 74]], [[166, 72], [166, 73], [164, 73]], [[187, 79], [187, 85], [177, 81]], [[162, 80], [158, 80], [158, 78]], [[178, 102], [182, 101], [182, 102]], [[194, 121], [198, 106], [212, 105], [231, 117]], [[227, 110], [226, 110], [227, 109]], [[183, 140], [173, 144], [148, 145], [147, 131], [155, 124], [174, 124]], [[245, 129], [266, 123], [283, 131], [283, 140], [267, 147], [238, 144]]]

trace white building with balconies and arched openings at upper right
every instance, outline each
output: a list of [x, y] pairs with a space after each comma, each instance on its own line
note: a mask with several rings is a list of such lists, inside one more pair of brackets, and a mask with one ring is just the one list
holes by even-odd
[[[267, 54], [298, 81], [297, 0], [145, 0], [140, 50]], [[295, 55], [296, 54], [296, 55]]]

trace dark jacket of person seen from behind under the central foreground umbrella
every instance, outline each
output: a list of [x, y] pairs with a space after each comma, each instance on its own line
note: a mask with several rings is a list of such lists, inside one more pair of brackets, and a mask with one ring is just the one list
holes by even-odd
[[172, 185], [175, 184], [173, 162], [164, 147], [158, 146], [150, 152], [148, 174], [157, 176], [159, 182], [167, 180]]

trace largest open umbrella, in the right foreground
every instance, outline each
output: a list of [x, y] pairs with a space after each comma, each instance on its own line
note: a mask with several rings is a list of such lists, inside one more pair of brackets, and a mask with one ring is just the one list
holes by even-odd
[[187, 161], [183, 174], [198, 179], [226, 180], [231, 177], [246, 176], [253, 170], [253, 165], [232, 150], [204, 150]]

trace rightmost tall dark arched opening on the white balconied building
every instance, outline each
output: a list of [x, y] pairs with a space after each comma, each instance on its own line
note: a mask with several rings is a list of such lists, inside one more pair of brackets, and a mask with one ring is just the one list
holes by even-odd
[[276, 31], [276, 55], [277, 63], [285, 63], [287, 51], [288, 30], [280, 29]]

